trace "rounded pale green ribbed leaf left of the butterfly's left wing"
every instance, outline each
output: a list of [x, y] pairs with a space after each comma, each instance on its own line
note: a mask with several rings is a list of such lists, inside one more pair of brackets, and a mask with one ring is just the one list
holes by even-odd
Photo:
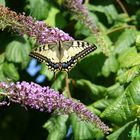
[[30, 51], [28, 42], [14, 40], [7, 45], [5, 55], [8, 61], [21, 63], [22, 68], [25, 68], [29, 62]]

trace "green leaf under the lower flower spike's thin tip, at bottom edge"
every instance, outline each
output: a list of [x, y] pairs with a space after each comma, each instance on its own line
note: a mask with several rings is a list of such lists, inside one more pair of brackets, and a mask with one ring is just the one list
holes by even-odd
[[71, 114], [70, 120], [75, 140], [102, 139], [103, 134], [94, 124], [78, 120], [75, 114]]

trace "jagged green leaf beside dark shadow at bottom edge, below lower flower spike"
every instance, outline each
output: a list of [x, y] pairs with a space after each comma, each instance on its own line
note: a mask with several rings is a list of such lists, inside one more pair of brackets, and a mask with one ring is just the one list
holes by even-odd
[[51, 117], [50, 120], [44, 124], [43, 127], [49, 131], [47, 140], [62, 140], [65, 138], [67, 119], [68, 116], [66, 115]]

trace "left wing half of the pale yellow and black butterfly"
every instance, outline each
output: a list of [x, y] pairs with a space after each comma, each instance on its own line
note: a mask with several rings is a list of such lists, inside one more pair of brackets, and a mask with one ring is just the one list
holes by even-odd
[[59, 69], [59, 44], [46, 44], [44, 46], [39, 46], [32, 50], [30, 56], [38, 59], [40, 62], [46, 63], [49, 69], [56, 71]]

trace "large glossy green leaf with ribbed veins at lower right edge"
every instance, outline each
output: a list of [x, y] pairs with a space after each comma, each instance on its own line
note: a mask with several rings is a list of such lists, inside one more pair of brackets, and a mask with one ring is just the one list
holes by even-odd
[[101, 117], [118, 125], [123, 125], [133, 120], [136, 116], [132, 108], [135, 105], [140, 105], [139, 91], [140, 77], [137, 77], [128, 85], [124, 93], [105, 109]]

